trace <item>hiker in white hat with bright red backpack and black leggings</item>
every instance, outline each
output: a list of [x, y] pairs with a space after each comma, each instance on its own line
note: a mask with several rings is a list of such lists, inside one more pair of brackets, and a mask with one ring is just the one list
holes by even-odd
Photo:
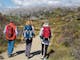
[[49, 41], [51, 38], [51, 29], [48, 23], [44, 23], [39, 34], [41, 38], [41, 44], [42, 44], [42, 57], [45, 58], [47, 55], [47, 49], [49, 46]]

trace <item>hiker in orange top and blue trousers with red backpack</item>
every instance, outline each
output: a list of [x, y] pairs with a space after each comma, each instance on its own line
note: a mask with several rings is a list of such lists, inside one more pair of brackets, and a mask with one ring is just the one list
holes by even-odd
[[8, 57], [12, 57], [15, 39], [18, 34], [17, 27], [13, 23], [13, 21], [10, 21], [10, 23], [5, 26], [5, 29], [3, 32], [6, 36], [6, 40], [8, 40]]

